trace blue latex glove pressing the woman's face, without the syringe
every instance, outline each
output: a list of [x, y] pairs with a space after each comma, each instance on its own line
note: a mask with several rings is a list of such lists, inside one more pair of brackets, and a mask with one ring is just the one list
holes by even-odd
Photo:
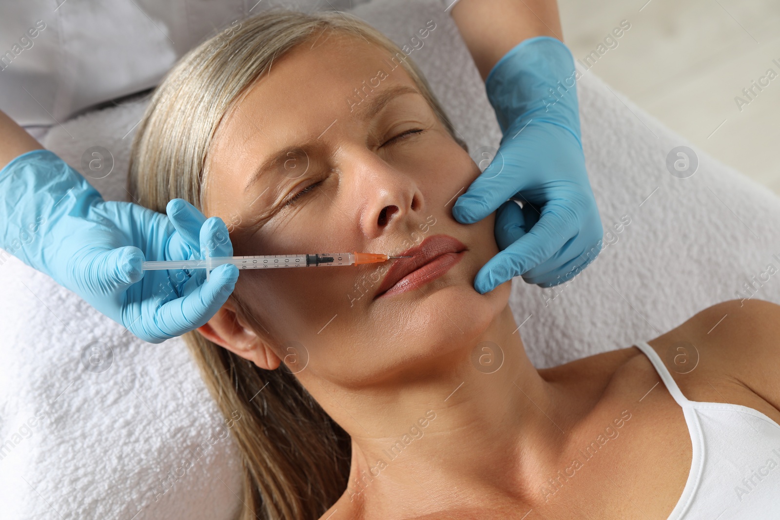
[[604, 230], [585, 170], [576, 78], [566, 45], [535, 37], [498, 60], [485, 80], [504, 136], [491, 164], [452, 207], [463, 224], [498, 208], [502, 251], [477, 273], [477, 292], [518, 275], [558, 285], [601, 251]]

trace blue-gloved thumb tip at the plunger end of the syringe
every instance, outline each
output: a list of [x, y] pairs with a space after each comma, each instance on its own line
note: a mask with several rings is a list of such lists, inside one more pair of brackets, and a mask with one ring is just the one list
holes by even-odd
[[94, 248], [71, 270], [80, 294], [108, 295], [124, 292], [144, 276], [144, 253], [135, 246], [115, 249]]

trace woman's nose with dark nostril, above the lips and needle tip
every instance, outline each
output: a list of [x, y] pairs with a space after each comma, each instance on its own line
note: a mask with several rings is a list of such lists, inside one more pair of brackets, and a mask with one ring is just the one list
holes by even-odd
[[423, 194], [413, 176], [375, 156], [365, 167], [367, 175], [360, 175], [360, 196], [366, 201], [360, 215], [363, 234], [373, 239], [415, 220], [423, 208]]

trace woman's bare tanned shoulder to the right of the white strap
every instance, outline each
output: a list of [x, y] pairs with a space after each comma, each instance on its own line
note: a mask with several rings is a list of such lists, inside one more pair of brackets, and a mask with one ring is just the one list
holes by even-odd
[[[780, 305], [760, 299], [720, 302], [648, 343], [667, 364], [673, 359], [664, 356], [670, 348], [681, 352], [688, 348], [685, 355], [696, 357], [697, 370], [675, 377], [679, 384], [718, 387], [714, 382], [720, 381], [735, 387], [732, 395], [738, 396], [736, 387], [743, 387], [780, 410]], [[668, 368], [686, 374], [686, 370]]]

